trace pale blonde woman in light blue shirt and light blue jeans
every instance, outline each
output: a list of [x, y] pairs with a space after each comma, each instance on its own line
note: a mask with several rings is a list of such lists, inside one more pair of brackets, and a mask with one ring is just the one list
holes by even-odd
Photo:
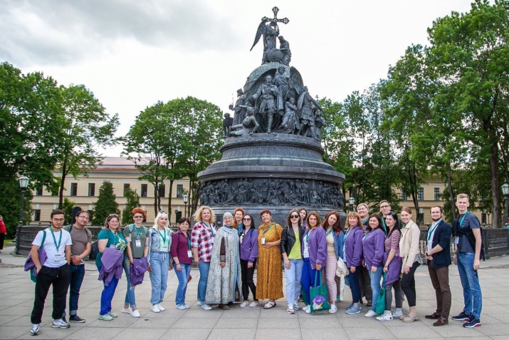
[[164, 311], [161, 302], [164, 300], [168, 282], [168, 269], [173, 268], [172, 257], [169, 249], [172, 247], [172, 231], [169, 230], [168, 215], [159, 212], [154, 220], [154, 225], [149, 229], [149, 272], [152, 283], [150, 296], [151, 311], [159, 313]]

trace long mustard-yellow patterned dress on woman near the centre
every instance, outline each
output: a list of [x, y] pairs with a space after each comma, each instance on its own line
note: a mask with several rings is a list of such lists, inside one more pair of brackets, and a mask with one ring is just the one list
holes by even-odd
[[266, 248], [261, 244], [281, 239], [283, 227], [277, 223], [258, 227], [258, 273], [256, 276], [256, 299], [277, 300], [283, 297], [283, 268], [279, 246]]

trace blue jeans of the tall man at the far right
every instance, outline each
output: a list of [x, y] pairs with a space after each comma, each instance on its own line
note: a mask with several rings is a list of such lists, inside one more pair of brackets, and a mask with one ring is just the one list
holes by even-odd
[[473, 270], [473, 259], [476, 253], [458, 252], [456, 259], [458, 262], [458, 272], [463, 287], [463, 300], [465, 301], [465, 314], [473, 314], [473, 317], [481, 317], [483, 309], [483, 294], [479, 285], [479, 277], [476, 270]]

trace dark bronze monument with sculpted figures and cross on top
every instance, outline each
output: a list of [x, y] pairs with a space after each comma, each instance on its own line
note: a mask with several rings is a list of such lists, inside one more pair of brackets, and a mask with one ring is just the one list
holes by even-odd
[[340, 186], [345, 175], [322, 160], [322, 109], [290, 66], [290, 44], [278, 27], [289, 20], [278, 19], [277, 7], [272, 11], [273, 18], [261, 19], [251, 47], [262, 39], [262, 64], [238, 89], [230, 105], [233, 121], [225, 115], [222, 158], [199, 172], [200, 204], [212, 207], [219, 221], [224, 212], [242, 207], [256, 226], [263, 209], [271, 210], [280, 225], [297, 207], [322, 217], [330, 210], [344, 216]]

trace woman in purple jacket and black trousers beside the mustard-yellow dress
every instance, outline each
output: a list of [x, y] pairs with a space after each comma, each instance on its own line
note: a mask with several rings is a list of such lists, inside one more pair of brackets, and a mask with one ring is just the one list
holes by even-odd
[[258, 299], [256, 299], [256, 285], [253, 281], [256, 260], [258, 259], [258, 230], [253, 227], [253, 217], [249, 214], [242, 218], [242, 229], [238, 234], [238, 243], [240, 244], [241, 253], [241, 281], [244, 299], [241, 308], [248, 305], [249, 289], [253, 293], [253, 302], [249, 306], [256, 307], [260, 305]]

